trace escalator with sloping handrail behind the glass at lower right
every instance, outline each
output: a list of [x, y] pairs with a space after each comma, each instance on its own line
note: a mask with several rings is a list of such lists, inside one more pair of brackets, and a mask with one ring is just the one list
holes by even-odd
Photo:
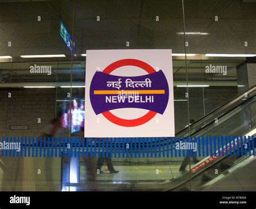
[[[228, 170], [242, 169], [240, 165], [243, 162], [248, 164], [255, 160], [255, 101], [256, 86], [253, 86], [176, 134], [176, 137], [190, 136], [190, 140], [193, 140], [193, 137], [207, 136], [214, 136], [218, 139], [220, 136], [231, 138], [231, 141], [227, 141], [226, 145], [218, 150], [212, 144], [212, 148], [215, 148], [213, 149], [214, 154], [206, 156], [199, 154], [200, 162], [190, 165], [188, 171], [160, 182], [154, 180], [99, 181], [97, 182], [98, 189], [105, 191], [190, 191], [192, 188], [193, 190], [203, 190], [207, 184], [212, 185], [214, 181], [218, 182], [216, 179], [221, 179], [225, 173], [229, 172]], [[167, 141], [168, 143], [166, 143]], [[170, 147], [171, 142], [173, 142], [171, 138], [165, 138], [162, 142], [164, 144], [160, 146], [161, 149], [157, 148], [157, 150], [165, 152], [166, 149], [173, 149], [173, 146]], [[205, 144], [205, 149], [208, 149], [206, 146], [210, 147], [210, 145]], [[232, 149], [227, 149], [227, 146], [231, 147], [231, 145]], [[247, 146], [251, 148], [249, 151]], [[225, 153], [221, 155], [220, 152]], [[201, 166], [202, 164], [204, 165]]]

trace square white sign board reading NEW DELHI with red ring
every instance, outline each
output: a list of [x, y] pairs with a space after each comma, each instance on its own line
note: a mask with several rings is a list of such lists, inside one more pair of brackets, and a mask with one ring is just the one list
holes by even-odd
[[174, 136], [171, 50], [87, 50], [85, 137]]

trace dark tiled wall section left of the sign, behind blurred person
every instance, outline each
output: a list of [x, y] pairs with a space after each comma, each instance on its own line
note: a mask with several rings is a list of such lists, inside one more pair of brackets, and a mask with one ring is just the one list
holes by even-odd
[[[55, 95], [56, 89], [50, 88], [1, 89], [0, 136], [38, 136], [55, 116]], [[10, 130], [10, 126], [29, 126], [29, 130]]]

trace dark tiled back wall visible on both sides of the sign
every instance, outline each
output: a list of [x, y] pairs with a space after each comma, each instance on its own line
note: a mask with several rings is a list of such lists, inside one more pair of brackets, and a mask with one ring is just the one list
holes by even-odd
[[[8, 98], [8, 93], [11, 98]], [[174, 90], [174, 99], [186, 99], [186, 88]], [[237, 95], [237, 88], [204, 88], [205, 113], [223, 105]], [[58, 92], [59, 94], [60, 92]], [[83, 97], [83, 95], [80, 95]], [[0, 90], [0, 136], [36, 137], [55, 116], [56, 89], [12, 88]], [[176, 133], [187, 125], [187, 102], [174, 101]], [[203, 89], [190, 89], [190, 118], [204, 116]], [[37, 119], [41, 123], [37, 123]], [[29, 126], [29, 130], [10, 130], [10, 126]]]

